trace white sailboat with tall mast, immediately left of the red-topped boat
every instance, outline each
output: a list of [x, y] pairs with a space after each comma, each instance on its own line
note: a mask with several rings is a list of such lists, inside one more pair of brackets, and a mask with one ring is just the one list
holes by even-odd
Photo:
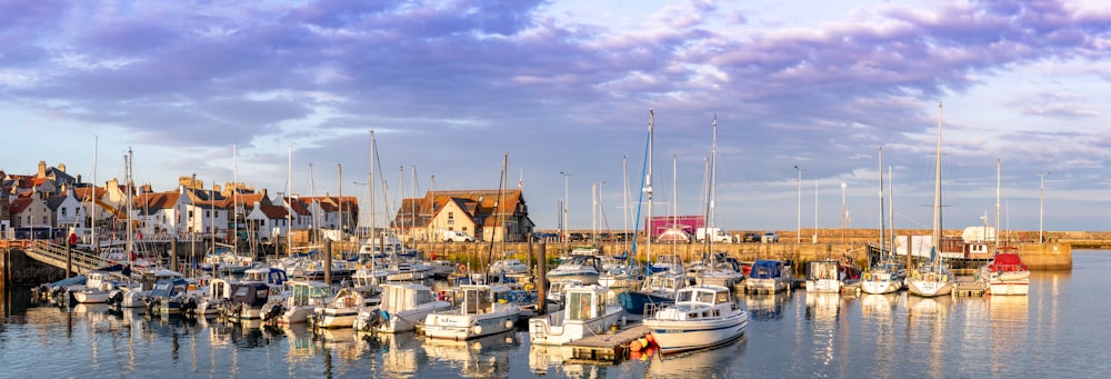
[[930, 249], [930, 261], [912, 271], [907, 279], [907, 289], [911, 295], [935, 297], [950, 295], [953, 291], [955, 277], [949, 271], [938, 248], [941, 245], [941, 104], [938, 104], [938, 161], [933, 187], [933, 248]]

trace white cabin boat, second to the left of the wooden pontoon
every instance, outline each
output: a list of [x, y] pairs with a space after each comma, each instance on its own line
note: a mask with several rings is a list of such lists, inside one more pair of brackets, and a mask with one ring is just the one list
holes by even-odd
[[459, 287], [457, 309], [433, 312], [424, 318], [424, 336], [432, 339], [467, 340], [513, 329], [521, 307], [498, 301], [509, 287], [467, 285]]

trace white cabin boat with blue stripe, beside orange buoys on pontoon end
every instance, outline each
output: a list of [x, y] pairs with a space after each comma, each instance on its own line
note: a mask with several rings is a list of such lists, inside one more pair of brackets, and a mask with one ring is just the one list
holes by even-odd
[[741, 337], [749, 323], [749, 312], [733, 301], [725, 287], [691, 286], [679, 290], [673, 305], [662, 306], [643, 323], [660, 352], [673, 353]]

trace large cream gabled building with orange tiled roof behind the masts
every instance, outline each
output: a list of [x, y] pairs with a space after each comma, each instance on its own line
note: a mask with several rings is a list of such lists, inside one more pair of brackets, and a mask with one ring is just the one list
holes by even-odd
[[439, 240], [443, 230], [484, 241], [526, 241], [536, 227], [520, 189], [429, 191], [403, 199], [392, 228], [413, 240]]

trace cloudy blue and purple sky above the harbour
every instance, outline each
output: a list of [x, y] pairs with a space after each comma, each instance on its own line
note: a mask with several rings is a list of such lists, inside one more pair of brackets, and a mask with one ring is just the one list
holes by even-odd
[[1082, 0], [0, 0], [0, 170], [631, 230], [651, 156], [654, 216], [929, 229], [940, 124], [944, 228], [1109, 230], [1109, 56]]

